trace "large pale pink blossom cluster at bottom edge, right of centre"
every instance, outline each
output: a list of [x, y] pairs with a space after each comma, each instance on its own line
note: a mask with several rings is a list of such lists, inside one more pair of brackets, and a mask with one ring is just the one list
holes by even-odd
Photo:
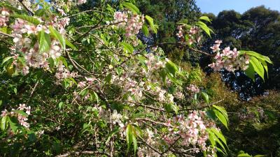
[[[216, 153], [212, 147], [207, 147], [207, 140], [209, 135], [207, 128], [216, 128], [214, 121], [207, 119], [206, 112], [192, 112], [188, 117], [178, 115], [174, 119], [167, 121], [168, 133], [163, 137], [155, 137], [155, 133], [147, 129], [146, 142], [154, 148], [158, 148], [160, 141], [164, 140], [166, 144], [173, 145], [176, 141], [180, 140], [181, 145], [187, 147], [193, 147], [195, 151], [192, 153], [199, 153], [200, 151], [207, 152], [208, 156], [214, 156]], [[139, 149], [139, 156], [160, 156], [152, 149], [148, 147], [142, 147]]]

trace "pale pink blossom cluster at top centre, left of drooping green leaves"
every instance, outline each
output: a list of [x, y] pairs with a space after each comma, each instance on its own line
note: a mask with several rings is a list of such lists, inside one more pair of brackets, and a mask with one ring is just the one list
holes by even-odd
[[115, 22], [120, 22], [118, 26], [125, 29], [127, 37], [139, 33], [145, 22], [144, 15], [134, 15], [131, 12], [116, 12], [114, 17]]

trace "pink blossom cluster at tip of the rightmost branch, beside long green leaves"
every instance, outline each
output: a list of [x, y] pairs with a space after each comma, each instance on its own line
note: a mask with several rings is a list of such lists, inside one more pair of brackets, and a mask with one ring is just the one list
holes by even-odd
[[221, 70], [222, 68], [225, 68], [225, 70], [230, 72], [234, 72], [239, 69], [246, 70], [250, 61], [248, 55], [244, 54], [241, 56], [236, 48], [230, 50], [230, 47], [225, 47], [225, 49], [220, 52], [221, 43], [221, 40], [216, 40], [215, 45], [211, 47], [213, 52], [216, 52], [216, 56], [214, 57], [216, 62], [211, 63], [208, 66], [216, 71]]

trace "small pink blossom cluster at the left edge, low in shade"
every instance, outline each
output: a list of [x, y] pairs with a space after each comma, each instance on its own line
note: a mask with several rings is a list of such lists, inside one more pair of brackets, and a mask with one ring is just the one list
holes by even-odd
[[[30, 112], [31, 112], [31, 107], [25, 104], [20, 104], [18, 106], [18, 110], [21, 110], [21, 111], [25, 111], [25, 113], [27, 115], [30, 115]], [[8, 110], [3, 110], [1, 111], [1, 117], [4, 117], [4, 116], [7, 116], [7, 115], [10, 115], [10, 116], [13, 116], [13, 117], [18, 117], [18, 122], [20, 125], [22, 126], [25, 126], [26, 128], [29, 128], [29, 123], [27, 122], [28, 118], [18, 112], [15, 112], [15, 109], [12, 109], [11, 112], [8, 112]]]

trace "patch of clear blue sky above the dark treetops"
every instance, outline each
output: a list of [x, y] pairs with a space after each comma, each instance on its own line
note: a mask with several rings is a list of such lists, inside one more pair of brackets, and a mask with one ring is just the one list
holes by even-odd
[[197, 0], [197, 6], [202, 13], [214, 13], [218, 15], [223, 10], [236, 10], [244, 13], [249, 8], [265, 5], [272, 10], [280, 11], [280, 0]]

